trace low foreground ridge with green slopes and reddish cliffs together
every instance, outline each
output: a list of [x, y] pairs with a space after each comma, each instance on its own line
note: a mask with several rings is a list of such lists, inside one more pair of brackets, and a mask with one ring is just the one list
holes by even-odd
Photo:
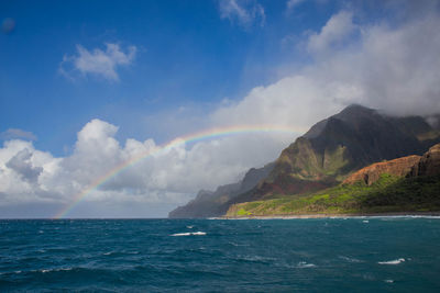
[[424, 156], [373, 164], [311, 194], [233, 204], [229, 217], [440, 211], [440, 144]]

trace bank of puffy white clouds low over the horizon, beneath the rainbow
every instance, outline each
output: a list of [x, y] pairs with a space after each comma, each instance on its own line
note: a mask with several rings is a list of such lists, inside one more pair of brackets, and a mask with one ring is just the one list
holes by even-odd
[[[111, 216], [121, 206], [125, 212], [143, 206], [143, 216], [165, 216], [166, 209], [186, 203], [199, 189], [235, 182], [251, 167], [275, 159], [295, 135], [237, 135], [162, 148], [153, 139], [120, 143], [117, 132], [116, 125], [91, 120], [78, 132], [73, 154], [59, 158], [36, 150], [31, 142], [6, 142], [0, 148], [0, 207], [67, 205], [118, 166], [152, 153], [91, 190], [70, 216], [84, 216], [85, 211]], [[162, 214], [154, 206], [162, 206]]]

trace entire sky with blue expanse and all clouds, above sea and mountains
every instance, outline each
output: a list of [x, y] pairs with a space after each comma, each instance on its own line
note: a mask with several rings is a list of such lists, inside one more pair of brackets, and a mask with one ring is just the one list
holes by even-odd
[[439, 1], [0, 0], [0, 217], [165, 217], [349, 104], [440, 113]]

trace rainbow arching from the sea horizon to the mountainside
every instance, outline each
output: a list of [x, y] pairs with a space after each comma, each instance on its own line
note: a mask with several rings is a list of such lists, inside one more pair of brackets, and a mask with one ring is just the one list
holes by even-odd
[[168, 143], [160, 145], [152, 150], [141, 153], [138, 156], [134, 156], [130, 160], [127, 160], [113, 169], [108, 171], [107, 173], [102, 174], [101, 177], [97, 178], [92, 181], [86, 189], [81, 192], [77, 193], [70, 203], [64, 206], [58, 213], [56, 213], [53, 218], [63, 218], [76, 206], [78, 203], [81, 202], [82, 199], [87, 196], [90, 192], [98, 189], [100, 185], [108, 182], [110, 179], [114, 178], [117, 174], [122, 172], [123, 170], [132, 167], [133, 165], [138, 164], [139, 161], [156, 155], [161, 151], [166, 151], [172, 148], [175, 148], [180, 145], [185, 145], [188, 143], [197, 143], [200, 140], [218, 138], [223, 136], [230, 135], [238, 135], [238, 134], [249, 134], [249, 133], [287, 133], [287, 134], [301, 134], [305, 132], [305, 128], [301, 127], [293, 127], [293, 126], [285, 126], [285, 125], [242, 125], [242, 126], [229, 126], [229, 127], [220, 127], [220, 128], [210, 128], [202, 132], [189, 134], [186, 136], [177, 137]]

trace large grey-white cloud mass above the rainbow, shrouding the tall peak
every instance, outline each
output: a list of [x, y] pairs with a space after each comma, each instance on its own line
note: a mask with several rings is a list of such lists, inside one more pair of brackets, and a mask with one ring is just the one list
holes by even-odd
[[351, 103], [395, 115], [440, 113], [438, 10], [393, 25], [352, 19], [346, 10], [332, 15], [305, 40], [308, 66], [219, 108], [213, 123], [310, 127]]

